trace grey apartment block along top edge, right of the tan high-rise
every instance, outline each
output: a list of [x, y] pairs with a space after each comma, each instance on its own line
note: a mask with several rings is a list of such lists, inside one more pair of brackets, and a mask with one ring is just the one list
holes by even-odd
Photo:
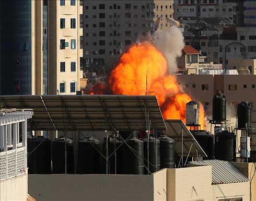
[[228, 17], [236, 25], [242, 24], [243, 1], [240, 0], [177, 0], [174, 18]]

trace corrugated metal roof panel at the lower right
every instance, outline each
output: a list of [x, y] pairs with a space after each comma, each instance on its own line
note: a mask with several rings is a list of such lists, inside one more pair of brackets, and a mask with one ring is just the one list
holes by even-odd
[[228, 161], [222, 160], [204, 160], [190, 162], [193, 165], [211, 165], [212, 166], [212, 183], [213, 184], [229, 184], [238, 182], [247, 182], [245, 175], [239, 172]]

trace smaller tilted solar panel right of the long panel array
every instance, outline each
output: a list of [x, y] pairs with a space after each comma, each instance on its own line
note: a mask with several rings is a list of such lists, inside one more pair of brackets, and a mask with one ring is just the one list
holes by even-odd
[[165, 120], [165, 123], [167, 131], [162, 133], [176, 141], [175, 152], [178, 156], [207, 157], [182, 120]]

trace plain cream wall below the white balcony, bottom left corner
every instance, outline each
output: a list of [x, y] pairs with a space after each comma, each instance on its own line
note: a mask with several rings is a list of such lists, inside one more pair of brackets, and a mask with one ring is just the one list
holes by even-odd
[[28, 175], [0, 182], [0, 200], [27, 200]]

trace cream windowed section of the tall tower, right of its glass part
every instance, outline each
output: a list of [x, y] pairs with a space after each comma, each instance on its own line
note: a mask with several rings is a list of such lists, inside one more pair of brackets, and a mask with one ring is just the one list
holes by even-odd
[[83, 78], [83, 1], [60, 0], [49, 4], [49, 94], [76, 94]]

